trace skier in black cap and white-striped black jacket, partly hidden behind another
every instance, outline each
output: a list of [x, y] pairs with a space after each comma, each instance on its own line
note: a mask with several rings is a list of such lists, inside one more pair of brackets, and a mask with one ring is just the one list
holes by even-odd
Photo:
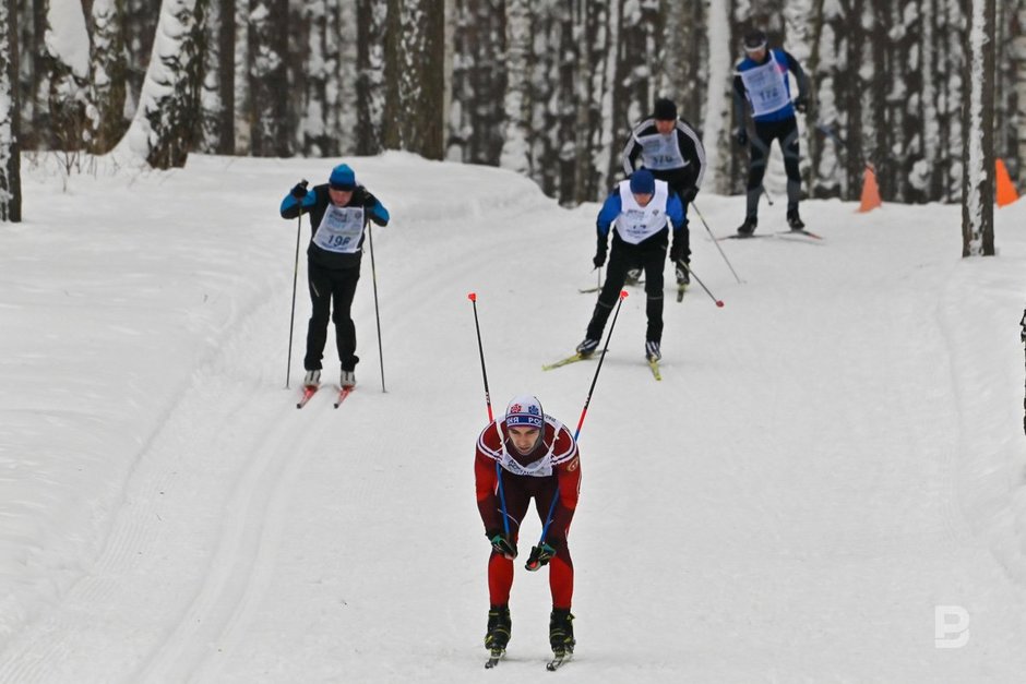
[[[627, 141], [622, 153], [623, 172], [630, 176], [637, 168], [652, 171], [656, 180], [666, 181], [677, 193], [688, 213], [688, 204], [699, 194], [699, 185], [705, 175], [705, 147], [694, 128], [677, 116], [673, 100], [659, 98], [652, 116], [645, 118]], [[639, 164], [639, 161], [641, 164]], [[691, 235], [687, 223], [681, 233], [681, 259], [676, 263], [677, 284], [691, 281], [685, 265], [691, 264]], [[628, 279], [637, 281], [641, 269], [631, 271]]]

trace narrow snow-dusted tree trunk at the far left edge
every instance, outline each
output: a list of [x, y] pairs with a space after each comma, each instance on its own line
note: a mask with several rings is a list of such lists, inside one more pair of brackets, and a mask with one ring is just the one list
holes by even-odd
[[0, 0], [0, 221], [21, 221], [15, 0]]

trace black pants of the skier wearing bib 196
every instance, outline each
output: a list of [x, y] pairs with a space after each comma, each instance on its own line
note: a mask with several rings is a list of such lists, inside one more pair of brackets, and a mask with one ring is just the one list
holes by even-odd
[[[342, 368], [351, 371], [359, 359], [356, 357], [356, 325], [350, 316], [353, 296], [360, 279], [360, 267], [325, 268], [313, 261], [307, 262], [310, 302], [313, 312], [307, 327], [307, 356], [302, 361], [308, 371], [320, 370], [327, 341], [327, 322], [335, 323], [335, 345]], [[334, 313], [332, 313], [334, 308]]]

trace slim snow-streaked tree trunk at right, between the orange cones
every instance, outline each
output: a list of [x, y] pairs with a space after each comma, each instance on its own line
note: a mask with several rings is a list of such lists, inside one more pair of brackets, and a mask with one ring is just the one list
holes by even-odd
[[964, 113], [962, 255], [994, 254], [994, 0], [971, 0]]

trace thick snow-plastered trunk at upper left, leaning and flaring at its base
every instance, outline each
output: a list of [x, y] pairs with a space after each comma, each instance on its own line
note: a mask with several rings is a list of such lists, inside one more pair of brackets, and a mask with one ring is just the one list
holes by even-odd
[[139, 109], [122, 139], [158, 169], [181, 167], [200, 121], [202, 13], [206, 0], [164, 0]]

